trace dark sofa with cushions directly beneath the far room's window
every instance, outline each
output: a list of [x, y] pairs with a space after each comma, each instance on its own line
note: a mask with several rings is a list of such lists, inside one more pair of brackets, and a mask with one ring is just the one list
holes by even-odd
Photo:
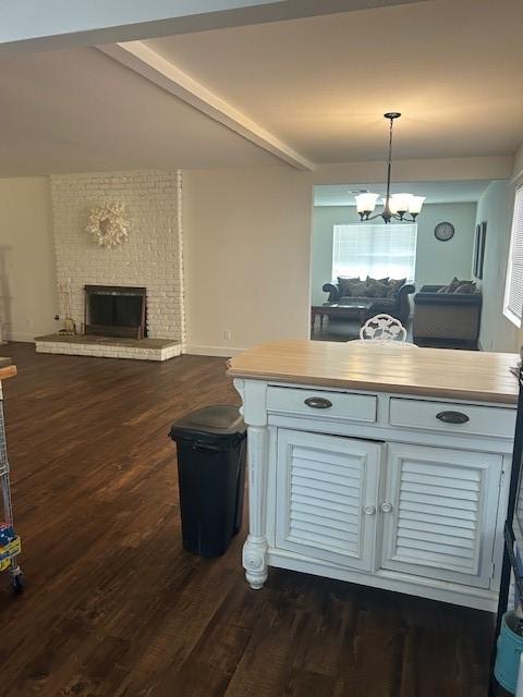
[[323, 290], [329, 294], [329, 303], [343, 305], [345, 302], [372, 301], [367, 317], [385, 313], [405, 323], [411, 314], [409, 295], [416, 289], [405, 279], [373, 279], [367, 276], [365, 280], [338, 277], [337, 281], [325, 283]]

